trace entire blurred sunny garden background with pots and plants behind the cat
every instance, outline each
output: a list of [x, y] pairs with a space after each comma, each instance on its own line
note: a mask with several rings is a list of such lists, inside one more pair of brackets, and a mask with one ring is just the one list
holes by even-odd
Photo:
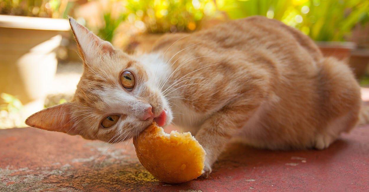
[[310, 36], [369, 85], [368, 0], [0, 0], [0, 129], [72, 98], [83, 67], [68, 15], [130, 54], [166, 32], [262, 15]]

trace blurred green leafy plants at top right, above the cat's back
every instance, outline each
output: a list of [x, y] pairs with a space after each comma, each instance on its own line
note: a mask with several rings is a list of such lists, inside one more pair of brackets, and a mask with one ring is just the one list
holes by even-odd
[[283, 21], [315, 41], [344, 41], [358, 23], [368, 23], [368, 0], [216, 0], [237, 19], [262, 15]]

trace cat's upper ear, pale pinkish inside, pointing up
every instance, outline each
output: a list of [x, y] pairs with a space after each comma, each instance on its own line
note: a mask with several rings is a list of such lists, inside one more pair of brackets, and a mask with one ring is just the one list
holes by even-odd
[[69, 18], [69, 23], [83, 61], [86, 62], [86, 59], [94, 59], [103, 54], [112, 55], [114, 53], [114, 47], [110, 42], [101, 40], [73, 18]]

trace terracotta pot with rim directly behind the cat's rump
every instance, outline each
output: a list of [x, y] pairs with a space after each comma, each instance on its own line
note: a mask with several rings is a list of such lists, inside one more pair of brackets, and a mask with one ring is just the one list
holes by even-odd
[[354, 42], [318, 41], [316, 43], [324, 56], [334, 56], [345, 62], [348, 62], [352, 49], [356, 47]]

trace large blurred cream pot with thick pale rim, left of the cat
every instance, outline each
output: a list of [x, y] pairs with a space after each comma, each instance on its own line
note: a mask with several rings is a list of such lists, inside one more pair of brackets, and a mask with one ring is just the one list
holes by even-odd
[[44, 107], [58, 64], [59, 32], [69, 28], [64, 19], [0, 15], [0, 93], [20, 99], [24, 116]]

